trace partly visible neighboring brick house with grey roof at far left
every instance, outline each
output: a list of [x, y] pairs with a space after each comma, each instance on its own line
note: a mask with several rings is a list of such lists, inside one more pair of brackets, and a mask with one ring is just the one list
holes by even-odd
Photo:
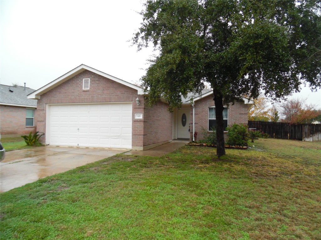
[[28, 99], [34, 89], [0, 84], [1, 137], [15, 137], [36, 132], [37, 100]]

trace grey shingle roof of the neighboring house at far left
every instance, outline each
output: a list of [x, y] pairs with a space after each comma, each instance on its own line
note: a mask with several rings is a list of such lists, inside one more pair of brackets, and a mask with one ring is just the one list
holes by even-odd
[[[11, 91], [9, 91], [11, 90]], [[37, 100], [28, 99], [27, 95], [34, 92], [34, 89], [22, 86], [8, 86], [0, 84], [0, 104], [18, 107], [37, 107]]]

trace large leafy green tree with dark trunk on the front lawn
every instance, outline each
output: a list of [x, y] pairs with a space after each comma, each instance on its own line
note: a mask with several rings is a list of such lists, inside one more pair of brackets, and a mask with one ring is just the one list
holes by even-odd
[[213, 88], [217, 155], [225, 155], [223, 109], [242, 96], [272, 100], [321, 86], [320, 1], [147, 0], [133, 37], [138, 50], [155, 54], [143, 86], [148, 104], [160, 98], [169, 109], [181, 95]]

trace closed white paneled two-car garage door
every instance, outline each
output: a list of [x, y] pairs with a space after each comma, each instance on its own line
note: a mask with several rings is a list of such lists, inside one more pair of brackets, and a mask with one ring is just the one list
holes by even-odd
[[49, 145], [132, 147], [132, 103], [50, 105], [48, 112]]

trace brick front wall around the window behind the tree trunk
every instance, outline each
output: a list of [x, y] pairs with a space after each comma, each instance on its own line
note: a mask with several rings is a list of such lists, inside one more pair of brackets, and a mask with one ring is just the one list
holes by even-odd
[[[197, 132], [197, 140], [203, 138], [202, 127], [208, 129], [208, 108], [214, 106], [213, 96], [205, 97], [195, 102], [195, 131]], [[228, 125], [231, 124], [247, 124], [248, 105], [235, 103], [228, 108]], [[193, 137], [193, 108], [191, 108], [191, 139]], [[226, 137], [225, 137], [226, 138]]]

